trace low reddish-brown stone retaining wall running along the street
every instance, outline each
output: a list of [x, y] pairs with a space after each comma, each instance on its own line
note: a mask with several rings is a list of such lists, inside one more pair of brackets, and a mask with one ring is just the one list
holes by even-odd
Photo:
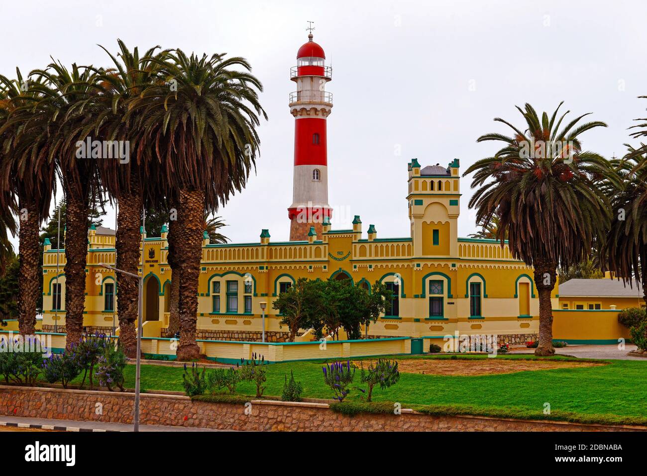
[[[0, 415], [132, 424], [132, 393], [0, 385]], [[193, 402], [187, 396], [142, 394], [141, 424], [257, 431], [644, 431], [645, 427], [584, 425], [484, 416], [344, 416], [327, 404], [252, 400], [243, 405]], [[248, 413], [248, 414], [247, 414]]]

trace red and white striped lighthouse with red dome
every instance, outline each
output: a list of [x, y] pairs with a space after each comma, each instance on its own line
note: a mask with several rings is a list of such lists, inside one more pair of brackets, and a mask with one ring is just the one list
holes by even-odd
[[290, 94], [294, 116], [294, 188], [288, 208], [290, 241], [305, 241], [311, 227], [319, 237], [323, 221], [331, 217], [328, 204], [328, 160], [326, 120], [333, 109], [332, 95], [325, 90], [331, 78], [323, 48], [313, 41], [309, 28], [307, 43], [296, 54], [291, 80], [296, 91]]

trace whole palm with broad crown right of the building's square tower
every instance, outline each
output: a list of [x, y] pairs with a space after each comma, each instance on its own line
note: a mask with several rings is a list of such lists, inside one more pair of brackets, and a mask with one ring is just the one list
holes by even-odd
[[[579, 136], [604, 122], [578, 124], [583, 114], [560, 129], [567, 113], [556, 121], [560, 105], [551, 118], [541, 119], [530, 104], [517, 107], [527, 129], [508, 125], [514, 135], [490, 133], [477, 142], [495, 140], [505, 146], [493, 157], [476, 162], [464, 175], [474, 172], [470, 208], [477, 208], [477, 221], [498, 216], [499, 230], [507, 232], [511, 254], [534, 266], [534, 284], [540, 302], [539, 345], [536, 355], [554, 353], [551, 293], [558, 265], [568, 268], [589, 257], [596, 239], [611, 222], [609, 200], [598, 187], [602, 177], [613, 175], [600, 155], [582, 151]], [[503, 234], [499, 240], [503, 246]]]

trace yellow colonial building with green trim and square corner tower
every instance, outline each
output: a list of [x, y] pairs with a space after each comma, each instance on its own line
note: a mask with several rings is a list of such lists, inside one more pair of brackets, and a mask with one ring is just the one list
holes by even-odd
[[[370, 291], [379, 280], [395, 297], [385, 316], [367, 330], [369, 337], [410, 336], [441, 339], [446, 334], [498, 334], [499, 340], [525, 343], [538, 332], [538, 299], [532, 269], [512, 259], [497, 241], [460, 238], [459, 161], [447, 167], [408, 164], [406, 195], [410, 236], [379, 237], [375, 224], [363, 230], [335, 230], [326, 217], [322, 233], [307, 240], [272, 242], [262, 230], [256, 243], [210, 244], [204, 235], [199, 281], [199, 338], [258, 341], [261, 302], [267, 302], [267, 340], [283, 341], [287, 329], [272, 301], [300, 277], [347, 279]], [[143, 237], [144, 336], [159, 337], [168, 326], [170, 282], [166, 227], [159, 237]], [[58, 265], [57, 265], [58, 261]], [[87, 330], [112, 332], [118, 326], [114, 273], [115, 231], [88, 232]], [[65, 332], [65, 250], [45, 241], [43, 330]], [[57, 272], [58, 270], [58, 272]], [[554, 307], [557, 298], [554, 299]], [[303, 329], [302, 340], [309, 340]]]

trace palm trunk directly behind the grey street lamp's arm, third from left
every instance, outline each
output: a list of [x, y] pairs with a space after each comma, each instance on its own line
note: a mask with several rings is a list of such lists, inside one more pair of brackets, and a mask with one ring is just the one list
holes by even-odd
[[[142, 235], [142, 196], [138, 179], [131, 180], [130, 193], [119, 200], [116, 233], [116, 267], [129, 273], [138, 274]], [[143, 272], [142, 268], [142, 272]], [[117, 312], [119, 317], [119, 341], [126, 356], [137, 357], [137, 332], [135, 322], [139, 312], [139, 282], [131, 276], [117, 273]]]

